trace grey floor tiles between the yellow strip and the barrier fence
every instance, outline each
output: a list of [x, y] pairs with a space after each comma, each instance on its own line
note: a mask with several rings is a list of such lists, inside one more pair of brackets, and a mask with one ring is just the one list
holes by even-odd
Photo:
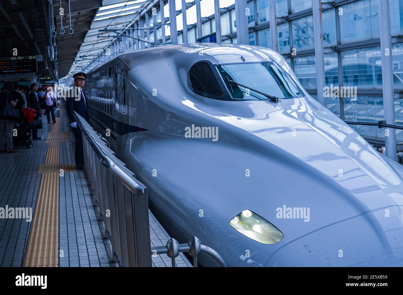
[[[60, 142], [60, 164], [74, 164], [74, 135], [61, 112], [60, 132], [70, 132], [71, 141]], [[84, 172], [60, 177], [59, 194], [59, 266], [111, 266]]]

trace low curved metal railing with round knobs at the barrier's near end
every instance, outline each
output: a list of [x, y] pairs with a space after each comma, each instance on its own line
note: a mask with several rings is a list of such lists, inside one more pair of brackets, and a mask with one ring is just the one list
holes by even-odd
[[214, 249], [202, 245], [200, 239], [192, 237], [187, 244], [179, 244], [177, 240], [171, 238], [166, 242], [165, 246], [151, 247], [151, 254], [166, 254], [172, 259], [172, 267], [175, 267], [175, 258], [179, 256], [179, 253], [188, 252], [193, 257], [193, 267], [197, 267], [197, 256], [200, 253], [204, 253], [212, 258], [219, 267], [226, 267], [224, 259]]

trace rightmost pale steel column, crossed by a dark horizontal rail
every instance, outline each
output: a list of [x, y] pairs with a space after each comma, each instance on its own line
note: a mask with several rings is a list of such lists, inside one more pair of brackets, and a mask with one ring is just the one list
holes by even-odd
[[[386, 124], [395, 125], [395, 96], [393, 89], [393, 58], [389, 0], [379, 1], [380, 53], [382, 58], [383, 110]], [[387, 132], [389, 131], [389, 132]], [[396, 130], [385, 130], [386, 156], [396, 161]]]

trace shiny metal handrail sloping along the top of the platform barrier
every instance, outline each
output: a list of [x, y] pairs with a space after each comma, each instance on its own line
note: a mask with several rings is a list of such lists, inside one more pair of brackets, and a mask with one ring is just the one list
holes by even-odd
[[104, 165], [110, 172], [112, 172], [124, 185], [126, 185], [133, 193], [137, 195], [142, 195], [144, 193], [144, 189], [138, 185], [129, 175], [127, 175], [122, 169], [114, 164], [108, 156], [104, 154], [104, 152], [100, 149], [98, 144], [94, 141], [94, 139], [89, 135], [87, 129], [84, 127], [83, 123], [81, 123], [80, 118], [78, 117], [75, 111], [73, 111], [73, 115], [76, 119], [77, 125], [80, 127], [81, 131], [83, 131], [85, 137], [87, 137], [91, 147], [94, 152], [100, 158], [102, 165]]

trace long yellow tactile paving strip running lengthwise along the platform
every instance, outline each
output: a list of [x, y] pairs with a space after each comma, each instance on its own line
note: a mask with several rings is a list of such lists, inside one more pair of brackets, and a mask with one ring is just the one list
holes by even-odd
[[[60, 118], [52, 132], [60, 133]], [[55, 137], [55, 135], [53, 135]], [[48, 141], [45, 164], [39, 184], [38, 196], [29, 231], [23, 266], [53, 266], [59, 264], [59, 141]]]

